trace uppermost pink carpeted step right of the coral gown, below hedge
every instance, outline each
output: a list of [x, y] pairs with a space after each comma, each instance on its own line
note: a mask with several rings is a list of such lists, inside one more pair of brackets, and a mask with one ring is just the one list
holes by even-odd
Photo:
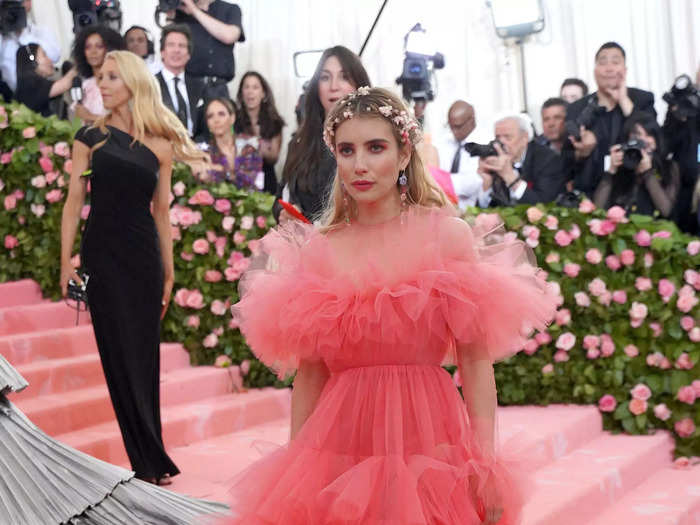
[[526, 451], [528, 467], [538, 469], [602, 435], [595, 406], [498, 407], [499, 443], [505, 452]]

